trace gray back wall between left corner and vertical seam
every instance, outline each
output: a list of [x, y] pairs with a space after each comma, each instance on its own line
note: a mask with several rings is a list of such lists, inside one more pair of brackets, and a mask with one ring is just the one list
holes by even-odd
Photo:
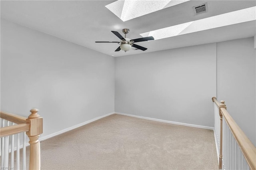
[[214, 127], [216, 43], [115, 58], [115, 111]]

